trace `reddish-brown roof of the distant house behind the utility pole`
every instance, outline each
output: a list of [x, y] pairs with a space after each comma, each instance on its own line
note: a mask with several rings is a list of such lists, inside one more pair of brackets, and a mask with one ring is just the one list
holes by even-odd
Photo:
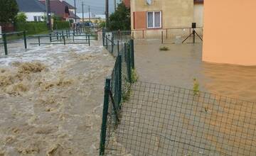
[[[41, 2], [41, 4], [46, 4], [46, 0], [39, 0]], [[50, 0], [50, 12], [54, 13], [57, 16], [60, 17], [64, 17], [65, 16], [65, 6], [71, 6], [70, 4], [68, 4], [67, 2], [64, 1], [59, 1], [59, 0]], [[75, 14], [70, 11], [70, 16], [68, 16], [70, 18], [75, 18]], [[79, 18], [77, 16], [77, 18]]]

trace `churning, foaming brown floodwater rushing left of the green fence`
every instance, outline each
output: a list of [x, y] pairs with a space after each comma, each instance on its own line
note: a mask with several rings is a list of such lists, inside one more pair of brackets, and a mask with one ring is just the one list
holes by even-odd
[[20, 44], [0, 55], [0, 155], [98, 155], [112, 56], [97, 42]]

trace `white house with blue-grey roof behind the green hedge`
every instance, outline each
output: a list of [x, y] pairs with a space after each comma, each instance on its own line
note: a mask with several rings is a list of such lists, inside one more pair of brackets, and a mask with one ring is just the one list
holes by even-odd
[[38, 0], [16, 0], [20, 12], [26, 14], [26, 21], [44, 21], [46, 6]]

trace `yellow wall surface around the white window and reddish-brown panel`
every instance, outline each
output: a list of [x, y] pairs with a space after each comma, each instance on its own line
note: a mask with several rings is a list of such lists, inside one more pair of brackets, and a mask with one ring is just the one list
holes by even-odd
[[145, 0], [131, 0], [132, 29], [135, 11], [162, 11], [163, 28], [191, 27], [193, 22], [193, 0], [152, 0], [150, 6]]

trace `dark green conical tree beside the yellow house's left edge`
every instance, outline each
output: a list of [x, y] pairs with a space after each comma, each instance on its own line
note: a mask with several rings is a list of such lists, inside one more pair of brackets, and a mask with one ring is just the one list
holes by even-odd
[[110, 30], [130, 30], [131, 29], [131, 13], [130, 10], [122, 2], [117, 6], [117, 11], [110, 15]]

